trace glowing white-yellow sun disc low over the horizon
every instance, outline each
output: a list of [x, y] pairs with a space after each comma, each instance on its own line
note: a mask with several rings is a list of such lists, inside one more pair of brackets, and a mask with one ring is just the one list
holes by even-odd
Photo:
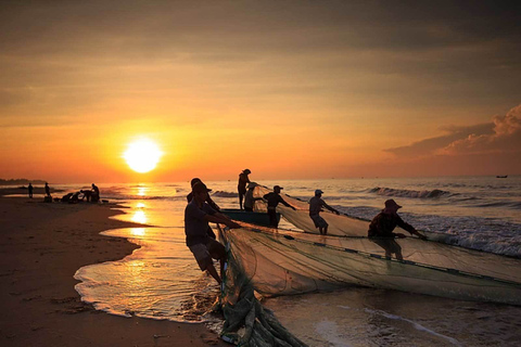
[[163, 152], [155, 142], [140, 139], [128, 145], [123, 157], [132, 170], [144, 174], [155, 168], [162, 155]]

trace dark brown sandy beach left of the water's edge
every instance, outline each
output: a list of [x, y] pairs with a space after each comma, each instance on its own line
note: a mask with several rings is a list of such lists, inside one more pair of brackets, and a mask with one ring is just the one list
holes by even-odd
[[229, 346], [203, 324], [118, 317], [81, 303], [74, 288], [79, 268], [138, 247], [100, 235], [138, 226], [110, 219], [118, 207], [0, 196], [0, 345]]

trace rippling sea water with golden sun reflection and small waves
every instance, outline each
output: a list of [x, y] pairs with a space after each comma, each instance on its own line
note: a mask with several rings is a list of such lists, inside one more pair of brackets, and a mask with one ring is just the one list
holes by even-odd
[[[365, 219], [394, 198], [404, 206], [403, 219], [419, 230], [446, 233], [450, 243], [460, 246], [521, 257], [519, 176], [257, 182], [279, 184], [283, 193], [304, 201], [321, 189], [328, 204]], [[236, 181], [206, 184], [220, 207], [238, 207]], [[189, 182], [99, 187], [102, 198], [126, 207], [115, 218], [143, 224], [104, 234], [127, 237], [141, 247], [119, 261], [79, 269], [76, 278], [81, 282], [76, 288], [82, 299], [114, 314], [214, 324], [215, 317], [206, 312], [218, 294], [217, 284], [199, 270], [185, 245]], [[280, 227], [296, 229], [284, 220]], [[517, 346], [521, 342], [521, 308], [507, 305], [364, 287], [266, 298], [263, 304], [310, 346]]]

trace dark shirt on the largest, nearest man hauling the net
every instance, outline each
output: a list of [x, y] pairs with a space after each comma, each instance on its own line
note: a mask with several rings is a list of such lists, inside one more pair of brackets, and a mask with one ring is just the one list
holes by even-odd
[[193, 246], [199, 243], [206, 244], [209, 241], [208, 221], [204, 219], [206, 215], [215, 215], [215, 209], [204, 203], [202, 207], [198, 206], [195, 201], [190, 202], [185, 208], [185, 234], [187, 235], [187, 246]]

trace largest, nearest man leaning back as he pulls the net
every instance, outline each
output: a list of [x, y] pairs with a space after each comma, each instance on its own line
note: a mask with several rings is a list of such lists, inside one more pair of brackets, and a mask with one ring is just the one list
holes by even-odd
[[[208, 222], [223, 223], [229, 228], [241, 228], [240, 224], [223, 218], [215, 209], [205, 203], [208, 189], [203, 182], [195, 182], [192, 188], [192, 201], [185, 208], [185, 234], [187, 246], [192, 252], [201, 271], [208, 273], [223, 283], [221, 277], [225, 271], [226, 249], [218, 241], [208, 236]], [[220, 261], [220, 275], [214, 267], [213, 260]]]

